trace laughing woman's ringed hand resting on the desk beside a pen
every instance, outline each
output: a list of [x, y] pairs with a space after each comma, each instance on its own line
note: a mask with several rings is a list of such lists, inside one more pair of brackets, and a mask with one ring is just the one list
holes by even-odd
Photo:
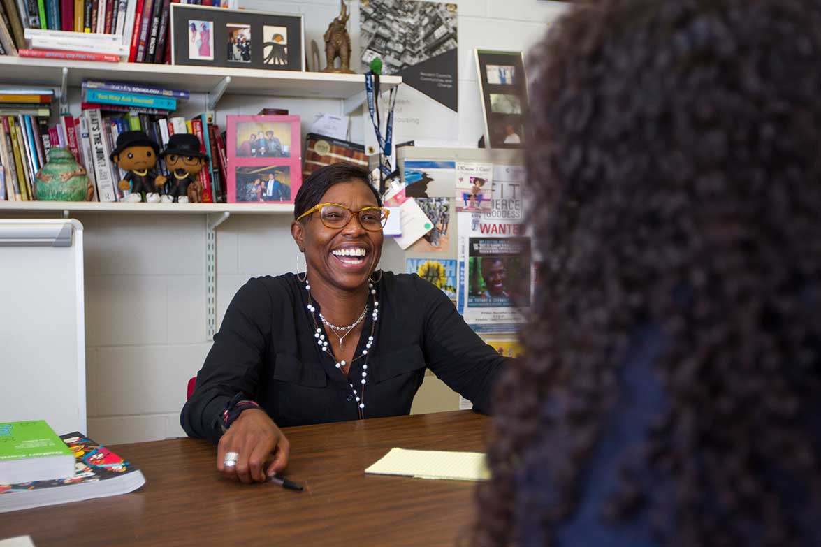
[[[236, 452], [236, 466], [227, 467], [225, 454]], [[268, 414], [259, 408], [242, 411], [231, 427], [222, 434], [217, 447], [217, 469], [227, 479], [250, 484], [264, 482], [288, 465], [291, 444]], [[265, 465], [273, 453], [273, 462]]]

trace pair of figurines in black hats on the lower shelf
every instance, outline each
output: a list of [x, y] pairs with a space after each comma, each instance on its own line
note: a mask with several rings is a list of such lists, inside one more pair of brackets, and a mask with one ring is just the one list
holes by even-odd
[[[165, 159], [171, 179], [154, 173], [157, 159]], [[200, 139], [188, 133], [172, 135], [160, 152], [159, 145], [143, 131], [125, 131], [117, 137], [110, 159], [126, 176], [117, 185], [131, 191], [123, 201], [135, 203], [200, 203], [202, 185], [198, 175], [208, 156], [200, 152]], [[166, 182], [169, 182], [165, 191]]]

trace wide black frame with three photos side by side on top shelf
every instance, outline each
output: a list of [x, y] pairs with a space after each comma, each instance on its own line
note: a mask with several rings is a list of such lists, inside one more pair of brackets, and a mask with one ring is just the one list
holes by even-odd
[[300, 14], [171, 4], [171, 62], [197, 67], [304, 71]]

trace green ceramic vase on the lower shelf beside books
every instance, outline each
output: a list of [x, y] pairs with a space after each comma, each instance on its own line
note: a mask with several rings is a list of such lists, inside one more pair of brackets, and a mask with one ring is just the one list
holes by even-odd
[[48, 150], [48, 161], [36, 178], [34, 192], [38, 201], [89, 200], [89, 176], [69, 149]]

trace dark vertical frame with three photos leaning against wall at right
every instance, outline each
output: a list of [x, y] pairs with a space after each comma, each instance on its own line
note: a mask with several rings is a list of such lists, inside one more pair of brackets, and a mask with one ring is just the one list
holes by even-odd
[[485, 146], [522, 148], [527, 115], [527, 79], [522, 53], [476, 49], [475, 55]]

